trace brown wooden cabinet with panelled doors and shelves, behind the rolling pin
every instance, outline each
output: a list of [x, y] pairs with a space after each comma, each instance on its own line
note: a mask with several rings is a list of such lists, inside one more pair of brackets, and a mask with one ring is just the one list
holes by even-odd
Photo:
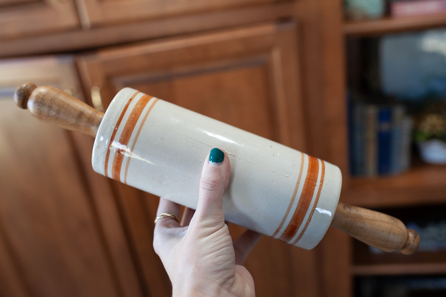
[[[348, 173], [344, 50], [347, 38], [445, 26], [446, 18], [351, 22], [343, 20], [342, 4], [340, 0], [0, 0], [4, 25], [0, 57], [56, 57], [43, 63], [55, 67], [44, 72], [35, 72], [33, 62], [17, 66], [2, 60], [0, 71], [8, 73], [1, 77], [2, 94], [10, 100], [22, 80], [32, 80], [70, 91], [73, 85], [77, 95], [90, 101], [95, 87], [107, 107], [120, 88], [134, 87], [338, 165], [343, 171], [341, 201], [347, 204], [395, 209], [444, 205], [444, 166], [418, 165], [387, 178], [358, 179]], [[72, 58], [69, 62], [58, 58], [73, 52], [75, 67]], [[70, 74], [59, 71], [61, 65], [70, 65]], [[21, 69], [21, 76], [15, 76], [20, 79], [12, 79], [13, 69]], [[25, 119], [26, 112], [10, 106], [0, 111], [1, 139], [14, 145], [3, 148], [2, 169], [7, 170], [0, 181], [0, 193], [6, 197], [0, 200], [0, 277], [7, 284], [2, 286], [5, 292], [30, 295], [38, 290], [43, 293], [36, 294], [57, 296], [71, 286], [85, 290], [73, 289], [78, 295], [103, 289], [99, 295], [169, 296], [169, 280], [152, 248], [157, 198], [91, 172], [88, 137]], [[16, 130], [21, 132], [11, 132]], [[17, 138], [17, 133], [32, 140]], [[51, 149], [55, 153], [48, 153]], [[33, 157], [25, 161], [26, 155]], [[34, 172], [53, 174], [50, 180], [57, 183], [48, 184], [44, 174], [28, 182]], [[22, 180], [27, 181], [25, 186], [18, 183]], [[36, 184], [36, 193], [28, 189], [27, 185]], [[40, 198], [31, 200], [33, 195]], [[84, 238], [68, 244], [74, 242], [74, 234], [83, 235], [84, 228]], [[231, 231], [237, 236], [240, 228], [231, 226]], [[43, 247], [57, 256], [48, 256]], [[352, 295], [352, 280], [359, 275], [417, 269], [446, 274], [444, 264], [424, 265], [430, 256], [405, 263], [404, 257], [373, 258], [363, 251], [363, 246], [329, 228], [311, 251], [264, 237], [247, 266], [258, 296], [344, 297]], [[443, 254], [435, 255], [444, 259]], [[75, 260], [66, 260], [71, 256]], [[61, 267], [68, 271], [66, 278], [56, 273]], [[50, 271], [46, 276], [37, 275], [36, 271], [45, 270]], [[93, 275], [98, 280], [94, 288], [87, 277]]]

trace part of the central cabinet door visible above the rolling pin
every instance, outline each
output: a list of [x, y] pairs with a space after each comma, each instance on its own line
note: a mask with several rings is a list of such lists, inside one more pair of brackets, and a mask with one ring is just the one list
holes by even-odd
[[293, 23], [266, 24], [104, 49], [78, 62], [105, 108], [133, 87], [305, 151], [296, 37]]

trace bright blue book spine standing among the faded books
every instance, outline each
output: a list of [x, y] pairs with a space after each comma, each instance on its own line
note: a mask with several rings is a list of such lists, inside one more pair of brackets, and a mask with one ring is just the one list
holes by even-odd
[[378, 172], [391, 172], [392, 108], [382, 107], [378, 112]]

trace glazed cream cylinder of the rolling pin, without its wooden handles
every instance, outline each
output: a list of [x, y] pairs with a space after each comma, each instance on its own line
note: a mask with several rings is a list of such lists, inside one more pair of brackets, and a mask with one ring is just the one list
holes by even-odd
[[196, 208], [203, 162], [224, 149], [228, 222], [306, 249], [338, 205], [339, 168], [318, 158], [131, 88], [112, 100], [95, 139], [96, 172]]

